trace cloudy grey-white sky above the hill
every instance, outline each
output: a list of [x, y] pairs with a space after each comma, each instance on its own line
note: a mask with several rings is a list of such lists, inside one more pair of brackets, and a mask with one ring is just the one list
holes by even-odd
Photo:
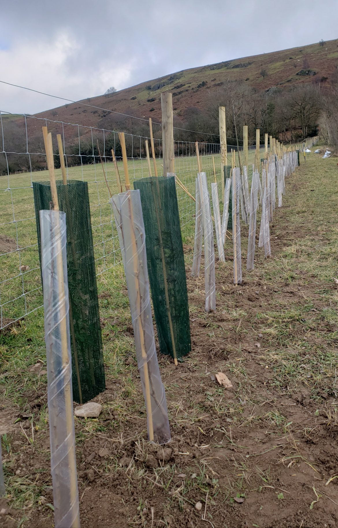
[[[0, 1], [0, 80], [74, 100], [182, 69], [338, 37], [338, 2]], [[0, 110], [62, 101], [0, 83]]]

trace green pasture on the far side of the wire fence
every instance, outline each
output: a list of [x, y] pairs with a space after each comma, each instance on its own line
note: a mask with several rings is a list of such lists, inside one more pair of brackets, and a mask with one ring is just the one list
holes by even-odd
[[[221, 189], [220, 156], [215, 155], [214, 158], [217, 167], [217, 181]], [[253, 160], [252, 152], [250, 152], [251, 160]], [[158, 159], [159, 174], [162, 171], [161, 163], [162, 160]], [[209, 182], [214, 181], [211, 156], [201, 156], [201, 163], [202, 168], [207, 172]], [[115, 194], [118, 192], [118, 187], [113, 164], [107, 162], [104, 166], [110, 191]], [[122, 163], [119, 163], [119, 166], [123, 180]], [[148, 176], [147, 161], [144, 159], [131, 159], [128, 167], [131, 180]], [[196, 157], [176, 158], [176, 172], [190, 193], [195, 195]], [[59, 169], [56, 171], [56, 178], [61, 179], [61, 177], [61, 169]], [[103, 277], [102, 274], [108, 273], [107, 270], [121, 262], [121, 254], [109, 204], [109, 191], [104, 181], [100, 161], [95, 165], [71, 167], [68, 170], [68, 177], [88, 182], [96, 270], [99, 274], [99, 285], [102, 281], [105, 286], [109, 278]], [[2, 305], [0, 328], [10, 320], [32, 312], [43, 302], [32, 182], [45, 181], [48, 178], [48, 171], [0, 176], [0, 305]], [[179, 186], [177, 195], [185, 238], [186, 235], [189, 237], [194, 230], [195, 205]], [[20, 251], [15, 251], [17, 245]], [[8, 253], [9, 251], [11, 253]], [[21, 266], [28, 266], [29, 269], [21, 270]], [[121, 273], [121, 268], [118, 273]]]

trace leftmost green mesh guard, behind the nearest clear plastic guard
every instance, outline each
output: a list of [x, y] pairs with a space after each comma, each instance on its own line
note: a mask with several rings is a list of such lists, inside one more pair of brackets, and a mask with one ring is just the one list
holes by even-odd
[[[88, 184], [57, 181], [56, 187], [60, 211], [66, 213], [73, 399], [85, 403], [105, 389]], [[41, 265], [39, 211], [51, 208], [50, 183], [34, 182], [33, 192]]]

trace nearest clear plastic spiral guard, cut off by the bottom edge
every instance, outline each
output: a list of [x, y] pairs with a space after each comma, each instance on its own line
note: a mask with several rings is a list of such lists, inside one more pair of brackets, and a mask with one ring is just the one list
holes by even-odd
[[61, 211], [42, 210], [40, 225], [55, 528], [79, 528], [66, 215]]

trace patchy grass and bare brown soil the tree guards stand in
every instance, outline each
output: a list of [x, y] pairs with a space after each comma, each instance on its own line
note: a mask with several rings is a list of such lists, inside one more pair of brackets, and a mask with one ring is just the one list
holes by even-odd
[[[177, 369], [159, 356], [169, 451], [146, 441], [122, 267], [100, 275], [107, 390], [98, 419], [75, 418], [84, 528], [336, 525], [336, 174], [334, 158], [301, 160], [271, 224], [272, 258], [257, 249], [252, 272], [241, 226], [242, 286], [227, 240], [214, 314], [204, 312], [204, 274], [190, 277], [184, 228], [192, 352]], [[43, 335], [42, 310], [0, 335], [5, 528], [53, 526]], [[219, 371], [233, 389], [213, 381]]]

